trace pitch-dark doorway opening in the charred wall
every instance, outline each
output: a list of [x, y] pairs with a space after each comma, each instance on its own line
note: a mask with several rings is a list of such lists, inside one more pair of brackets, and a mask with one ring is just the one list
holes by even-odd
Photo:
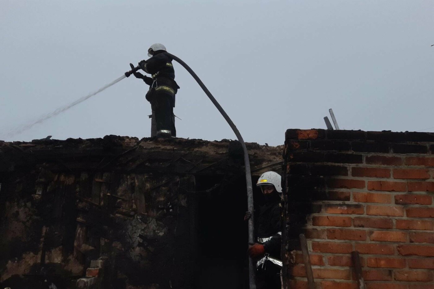
[[195, 288], [248, 288], [247, 223], [243, 221], [247, 211], [244, 175], [235, 178], [196, 176], [196, 196]]

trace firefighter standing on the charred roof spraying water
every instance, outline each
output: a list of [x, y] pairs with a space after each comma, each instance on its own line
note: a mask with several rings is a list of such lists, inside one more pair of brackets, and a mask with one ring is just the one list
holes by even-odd
[[134, 72], [136, 78], [143, 79], [149, 85], [146, 99], [151, 103], [155, 113], [157, 136], [176, 136], [173, 108], [175, 107], [175, 94], [179, 89], [175, 82], [175, 71], [172, 59], [165, 54], [166, 47], [160, 43], [151, 45], [148, 49], [148, 60], [139, 62], [139, 66], [152, 77]]

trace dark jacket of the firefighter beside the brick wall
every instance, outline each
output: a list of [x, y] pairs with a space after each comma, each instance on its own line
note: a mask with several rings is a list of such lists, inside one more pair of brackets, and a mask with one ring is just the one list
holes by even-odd
[[[277, 195], [276, 192], [272, 194]], [[270, 240], [263, 243], [265, 252], [269, 253], [270, 257], [275, 257], [280, 260], [282, 235], [277, 234], [281, 231], [279, 196], [274, 196], [272, 200], [266, 201], [266, 203], [260, 207], [256, 224], [256, 235], [258, 238], [272, 237]]]

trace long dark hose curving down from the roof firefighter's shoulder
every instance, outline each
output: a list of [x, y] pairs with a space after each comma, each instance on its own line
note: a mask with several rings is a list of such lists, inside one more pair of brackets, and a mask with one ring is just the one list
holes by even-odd
[[[246, 168], [246, 184], [247, 184], [247, 211], [250, 211], [251, 217], [248, 221], [249, 226], [249, 244], [255, 243], [255, 240], [253, 239], [253, 188], [252, 188], [252, 176], [250, 173], [250, 161], [249, 161], [249, 153], [247, 153], [247, 147], [246, 143], [244, 143], [243, 137], [241, 136], [240, 132], [238, 131], [235, 124], [233, 124], [232, 120], [229, 118], [229, 116], [226, 114], [226, 112], [223, 110], [223, 108], [220, 106], [220, 104], [216, 101], [214, 96], [210, 93], [208, 88], [205, 86], [205, 84], [201, 81], [201, 79], [194, 73], [194, 71], [181, 59], [176, 57], [175, 55], [172, 55], [168, 52], [164, 52], [169, 57], [174, 59], [176, 62], [181, 64], [190, 74], [193, 76], [193, 78], [197, 81], [197, 83], [201, 86], [201, 88], [204, 90], [205, 94], [209, 97], [209, 99], [212, 101], [212, 103], [217, 107], [218, 111], [220, 111], [220, 114], [224, 117], [224, 119], [229, 124], [230, 128], [232, 128], [233, 132], [237, 136], [238, 140], [241, 143], [241, 146], [243, 147], [244, 151], [244, 167]], [[256, 282], [255, 282], [255, 272], [256, 272], [256, 266], [252, 260], [252, 258], [249, 257], [249, 284], [250, 289], [256, 289]]]

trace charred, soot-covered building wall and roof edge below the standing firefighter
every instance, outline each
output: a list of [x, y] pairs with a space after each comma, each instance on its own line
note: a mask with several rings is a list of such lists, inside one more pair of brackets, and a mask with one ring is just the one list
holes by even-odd
[[[282, 147], [247, 147], [255, 177], [279, 171]], [[0, 159], [0, 286], [244, 288], [239, 143], [0, 142]]]

